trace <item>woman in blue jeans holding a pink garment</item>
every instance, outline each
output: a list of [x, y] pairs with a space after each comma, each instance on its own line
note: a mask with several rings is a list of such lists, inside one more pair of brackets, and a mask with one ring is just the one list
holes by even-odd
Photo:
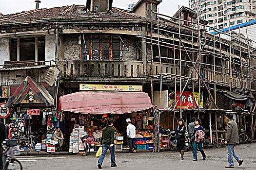
[[206, 155], [203, 151], [203, 138], [204, 138], [204, 129], [201, 126], [201, 120], [199, 118], [195, 119], [195, 127], [194, 127], [194, 133], [193, 135], [195, 136], [195, 141], [193, 143], [193, 161], [197, 161], [197, 146], [202, 154], [203, 160], [206, 159]]

